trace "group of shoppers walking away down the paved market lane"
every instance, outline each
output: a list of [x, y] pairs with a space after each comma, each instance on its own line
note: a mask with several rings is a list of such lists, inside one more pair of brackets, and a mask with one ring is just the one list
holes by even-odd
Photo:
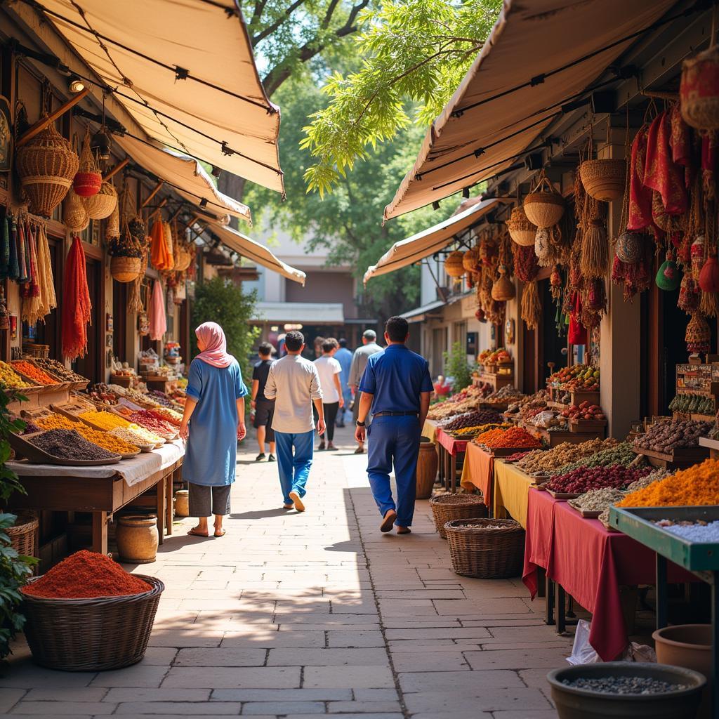
[[[247, 388], [237, 360], [226, 352], [221, 327], [205, 323], [196, 335], [200, 353], [190, 366], [180, 426], [180, 436], [188, 444], [183, 478], [190, 487], [190, 514], [199, 518], [188, 533], [209, 536], [207, 518], [214, 514], [214, 536], [222, 536], [222, 519], [230, 510], [237, 440], [246, 434]], [[305, 510], [314, 431], [320, 437], [318, 449], [336, 449], [334, 420], [339, 411], [344, 415], [345, 399], [354, 396], [355, 452], [364, 452], [368, 443], [367, 474], [382, 515], [380, 529], [388, 532], [397, 526], [398, 534], [410, 532], [420, 432], [432, 383], [426, 359], [406, 347], [408, 335], [407, 321], [401, 317], [387, 321], [385, 349], [377, 345], [374, 331], [365, 331], [345, 382], [343, 362], [347, 366], [350, 353], [336, 340], [322, 339], [321, 354], [314, 362], [302, 356], [305, 339], [299, 331], [285, 335], [286, 354], [274, 362], [272, 345], [260, 345], [251, 397], [260, 443], [257, 459], [267, 457], [265, 443], [269, 444], [267, 459], [278, 463], [284, 509]], [[347, 354], [341, 354], [342, 349]], [[396, 503], [390, 486], [393, 468]]]

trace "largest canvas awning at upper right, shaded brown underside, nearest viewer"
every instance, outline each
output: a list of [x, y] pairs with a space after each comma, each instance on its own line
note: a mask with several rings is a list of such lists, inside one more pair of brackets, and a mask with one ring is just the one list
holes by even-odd
[[[649, 27], [674, 4], [674, 0], [505, 0], [489, 40], [432, 123], [414, 167], [385, 207], [385, 219], [429, 205], [508, 168], [557, 116], [559, 106], [552, 106], [587, 88], [636, 42], [636, 37], [624, 38]], [[597, 54], [590, 59], [560, 70], [593, 52]], [[549, 75], [554, 70], [559, 71]], [[549, 75], [544, 81], [542, 73]], [[515, 90], [518, 86], [522, 87]]]

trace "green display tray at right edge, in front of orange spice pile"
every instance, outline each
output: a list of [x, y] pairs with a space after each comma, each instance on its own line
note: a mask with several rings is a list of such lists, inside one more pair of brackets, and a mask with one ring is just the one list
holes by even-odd
[[719, 570], [719, 542], [692, 542], [656, 526], [654, 521], [712, 522], [719, 519], [719, 506], [705, 507], [612, 507], [610, 526], [648, 546], [690, 572]]

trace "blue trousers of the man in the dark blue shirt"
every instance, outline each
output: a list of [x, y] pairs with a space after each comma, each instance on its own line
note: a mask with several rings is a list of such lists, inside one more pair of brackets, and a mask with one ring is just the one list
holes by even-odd
[[[367, 474], [380, 513], [397, 510], [396, 524], [411, 526], [417, 494], [420, 428], [417, 416], [375, 417], [367, 428]], [[392, 497], [390, 472], [395, 468], [397, 503]]]

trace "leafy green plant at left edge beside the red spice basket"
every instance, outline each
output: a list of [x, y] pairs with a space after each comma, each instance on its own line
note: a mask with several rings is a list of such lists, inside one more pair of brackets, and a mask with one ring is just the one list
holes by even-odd
[[[11, 402], [24, 400], [18, 393], [0, 388], [0, 504], [5, 505], [12, 494], [24, 494], [25, 489], [17, 475], [7, 467], [10, 458], [10, 443], [7, 439], [12, 431], [21, 431], [24, 421], [14, 418], [8, 410]], [[0, 513], [0, 659], [10, 653], [10, 642], [22, 630], [24, 615], [18, 608], [22, 603], [19, 588], [24, 585], [32, 572], [34, 557], [24, 557], [13, 549], [6, 530], [17, 520], [14, 514]]]

